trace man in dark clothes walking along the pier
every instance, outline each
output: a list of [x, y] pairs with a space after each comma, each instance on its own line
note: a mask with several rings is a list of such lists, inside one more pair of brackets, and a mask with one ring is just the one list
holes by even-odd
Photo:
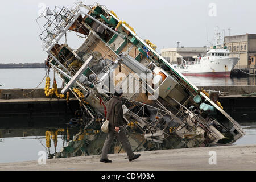
[[121, 142], [123, 148], [127, 152], [129, 161], [137, 159], [139, 158], [139, 156], [141, 156], [141, 154], [135, 155], [133, 153], [129, 140], [127, 139], [125, 134], [126, 129], [123, 126], [123, 108], [121, 102], [122, 94], [122, 89], [118, 91], [115, 90], [113, 98], [110, 99], [108, 102], [106, 118], [109, 119], [109, 133], [104, 142], [100, 162], [112, 162], [108, 159], [108, 152], [115, 136], [118, 138], [119, 142]]

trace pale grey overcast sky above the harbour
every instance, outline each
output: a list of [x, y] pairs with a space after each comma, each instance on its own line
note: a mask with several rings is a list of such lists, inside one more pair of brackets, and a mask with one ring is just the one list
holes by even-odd
[[[98, 0], [83, 1], [87, 5], [101, 3], [125, 20], [143, 39], [163, 47], [203, 47], [207, 39], [214, 43], [214, 31], [219, 27], [225, 35], [256, 34], [255, 7], [252, 0]], [[73, 1], [14, 0], [1, 1], [0, 63], [42, 63], [47, 54], [39, 39], [40, 3], [70, 7]], [[208, 34], [207, 34], [208, 33]]]

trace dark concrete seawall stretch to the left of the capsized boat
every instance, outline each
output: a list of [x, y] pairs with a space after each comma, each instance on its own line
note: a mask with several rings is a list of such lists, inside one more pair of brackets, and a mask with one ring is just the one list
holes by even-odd
[[79, 108], [79, 101], [70, 96], [67, 104], [65, 98], [46, 97], [44, 89], [0, 89], [0, 128], [65, 125]]

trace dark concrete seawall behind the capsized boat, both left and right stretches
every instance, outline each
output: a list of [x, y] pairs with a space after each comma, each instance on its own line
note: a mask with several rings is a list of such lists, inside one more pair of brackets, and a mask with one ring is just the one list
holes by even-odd
[[[201, 88], [199, 87], [199, 89]], [[220, 97], [224, 110], [237, 121], [255, 121], [256, 96], [245, 97], [241, 94], [255, 92], [256, 86], [204, 86], [203, 88], [228, 92], [230, 96]], [[9, 94], [8, 100], [6, 94]], [[72, 106], [69, 108], [75, 111], [79, 107], [79, 102], [71, 93], [71, 100], [72, 98], [74, 100], [70, 102]], [[61, 120], [63, 123], [67, 122], [65, 116], [68, 119], [72, 117], [73, 111], [67, 108], [65, 99], [57, 100], [56, 96], [53, 96], [52, 99], [46, 97], [44, 89], [0, 89], [0, 118], [4, 119], [5, 123], [10, 123], [8, 126], [13, 126], [11, 123], [16, 122], [17, 119], [19, 119], [19, 123], [22, 123], [21, 121], [35, 123], [34, 121], [39, 121], [40, 118], [43, 121], [46, 116], [53, 121]], [[3, 126], [1, 122], [0, 126]]]

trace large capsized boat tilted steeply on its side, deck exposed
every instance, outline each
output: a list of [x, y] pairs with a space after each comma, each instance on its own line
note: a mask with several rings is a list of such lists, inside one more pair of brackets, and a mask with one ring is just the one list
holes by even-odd
[[[84, 128], [79, 135], [84, 143], [77, 146], [98, 146], [103, 136], [98, 131], [115, 88], [123, 89], [124, 119], [134, 151], [232, 144], [245, 135], [216, 95], [193, 85], [155, 51], [150, 40], [139, 37], [105, 6], [82, 2], [71, 9], [56, 6], [37, 21], [43, 25], [40, 38], [48, 53], [46, 64], [64, 85], [59, 94], [55, 84], [49, 88], [46, 78], [46, 95], [67, 94], [68, 100], [72, 92], [80, 101], [78, 119]], [[77, 38], [75, 47], [69, 46], [69, 37]], [[112, 151], [120, 152], [117, 147], [118, 143]]]

